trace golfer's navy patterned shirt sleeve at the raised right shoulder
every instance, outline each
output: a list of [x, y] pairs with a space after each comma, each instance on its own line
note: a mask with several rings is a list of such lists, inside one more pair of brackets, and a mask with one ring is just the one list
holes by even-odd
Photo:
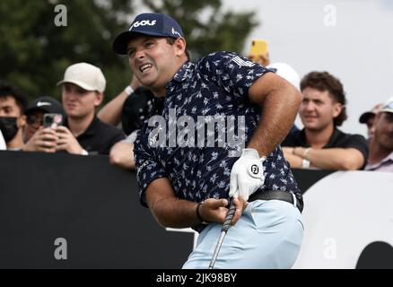
[[215, 81], [235, 97], [248, 97], [249, 87], [260, 76], [272, 72], [247, 57], [231, 52], [215, 52], [202, 58], [197, 66], [205, 81]]

